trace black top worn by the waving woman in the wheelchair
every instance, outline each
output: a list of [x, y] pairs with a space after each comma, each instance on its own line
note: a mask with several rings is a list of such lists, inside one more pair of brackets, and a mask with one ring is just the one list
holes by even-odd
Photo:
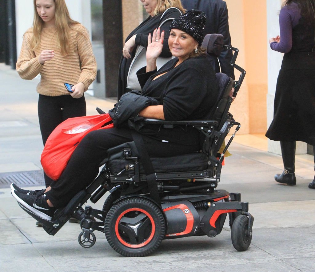
[[[137, 75], [142, 93], [163, 105], [165, 120], [204, 119], [215, 106], [218, 96], [215, 73], [203, 56], [190, 58], [175, 67], [177, 62], [178, 58], [174, 58], [159, 71], [148, 73], [145, 72], [146, 67], [141, 68]], [[164, 72], [167, 73], [153, 80]], [[152, 135], [169, 142], [193, 145], [200, 141], [199, 132], [192, 127], [146, 127], [154, 131]]]

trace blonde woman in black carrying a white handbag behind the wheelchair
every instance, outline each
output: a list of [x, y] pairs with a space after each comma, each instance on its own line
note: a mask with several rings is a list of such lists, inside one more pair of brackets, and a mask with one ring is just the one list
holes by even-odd
[[[138, 45], [142, 45], [145, 48], [148, 46], [148, 35], [152, 33], [164, 20], [169, 18], [177, 18], [180, 16], [180, 12], [184, 13], [184, 8], [180, 3], [180, 0], [140, 0], [146, 12], [150, 15], [144, 20], [139, 26], [137, 26], [126, 38], [123, 47], [123, 55], [119, 64], [118, 71], [118, 87], [117, 87], [117, 98], [119, 98], [126, 92], [130, 91], [127, 89], [127, 76], [130, 64], [135, 56], [135, 51]], [[169, 9], [161, 19], [163, 12]], [[169, 38], [169, 26], [171, 20], [165, 22], [161, 27], [161, 31], [165, 33], [165, 43], [163, 44], [163, 50], [161, 57], [170, 57], [172, 54], [169, 51], [168, 38]]]

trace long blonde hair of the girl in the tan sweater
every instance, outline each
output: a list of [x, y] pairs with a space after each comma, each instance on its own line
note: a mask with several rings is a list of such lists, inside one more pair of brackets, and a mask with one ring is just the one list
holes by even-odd
[[[57, 28], [57, 43], [60, 47], [62, 55], [70, 53], [69, 32], [72, 25], [79, 22], [72, 20], [69, 15], [65, 0], [54, 0], [55, 9], [55, 24]], [[44, 21], [38, 15], [36, 9], [36, 0], [34, 0], [34, 20], [33, 20], [33, 36], [31, 38], [31, 49], [35, 50], [40, 45], [40, 35], [43, 29]]]

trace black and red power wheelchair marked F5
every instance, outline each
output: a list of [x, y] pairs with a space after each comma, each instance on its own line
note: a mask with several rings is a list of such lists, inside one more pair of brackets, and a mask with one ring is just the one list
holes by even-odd
[[[200, 152], [167, 158], [149, 158], [141, 148], [141, 137], [108, 149], [108, 158], [99, 176], [78, 192], [65, 208], [55, 212], [51, 221], [32, 217], [43, 224], [50, 235], [56, 234], [88, 199], [96, 203], [107, 192], [102, 210], [86, 206], [81, 221], [79, 244], [89, 248], [95, 244], [95, 230], [105, 233], [109, 245], [127, 257], [151, 254], [163, 239], [221, 233], [229, 215], [232, 244], [238, 251], [247, 250], [252, 239], [254, 217], [248, 202], [241, 202], [240, 193], [216, 189], [221, 179], [224, 153], [241, 125], [233, 119], [229, 108], [242, 84], [245, 71], [235, 64], [238, 49], [223, 45], [220, 34], [207, 35], [203, 47], [208, 54], [233, 50], [231, 65], [241, 72], [238, 81], [217, 73], [219, 97], [211, 120], [164, 121], [145, 119], [146, 124], [160, 124], [172, 129], [175, 125], [193, 126], [204, 136]], [[99, 113], [102, 113], [98, 109]], [[226, 147], [220, 147], [230, 129], [236, 126]], [[23, 206], [20, 205], [22, 208]]]

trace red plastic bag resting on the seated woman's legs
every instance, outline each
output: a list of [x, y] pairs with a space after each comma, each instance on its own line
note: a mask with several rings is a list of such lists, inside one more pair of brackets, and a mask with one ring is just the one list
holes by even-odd
[[77, 144], [92, 130], [112, 128], [108, 113], [93, 116], [69, 118], [59, 124], [49, 135], [41, 155], [41, 164], [46, 175], [57, 180], [74, 151]]

